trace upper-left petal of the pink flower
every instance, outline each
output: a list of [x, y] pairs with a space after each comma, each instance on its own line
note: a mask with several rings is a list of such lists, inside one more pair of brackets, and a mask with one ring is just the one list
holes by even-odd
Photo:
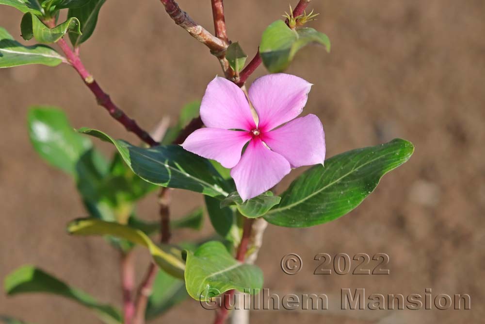
[[212, 128], [250, 131], [256, 126], [241, 88], [218, 76], [207, 85], [200, 105], [200, 117], [204, 125]]

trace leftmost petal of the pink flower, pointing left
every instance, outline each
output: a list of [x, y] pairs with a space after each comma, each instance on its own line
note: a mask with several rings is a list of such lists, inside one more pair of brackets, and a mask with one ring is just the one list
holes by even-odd
[[189, 152], [216, 160], [230, 169], [238, 164], [242, 148], [250, 139], [248, 132], [201, 128], [189, 135], [181, 145]]

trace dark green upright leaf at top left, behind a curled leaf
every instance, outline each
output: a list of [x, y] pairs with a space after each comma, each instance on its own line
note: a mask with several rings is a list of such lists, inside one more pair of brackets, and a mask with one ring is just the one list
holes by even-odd
[[99, 10], [105, 1], [91, 0], [82, 7], [69, 9], [67, 17], [76, 17], [81, 22], [82, 34], [69, 34], [69, 39], [74, 47], [78, 47], [91, 37], [96, 28]]

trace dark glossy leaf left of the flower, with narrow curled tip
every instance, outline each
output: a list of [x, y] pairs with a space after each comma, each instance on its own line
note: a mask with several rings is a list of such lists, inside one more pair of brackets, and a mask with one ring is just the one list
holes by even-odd
[[211, 197], [227, 196], [226, 181], [210, 162], [179, 145], [141, 148], [97, 130], [83, 128], [79, 132], [113, 143], [129, 168], [145, 181], [162, 187], [201, 192]]

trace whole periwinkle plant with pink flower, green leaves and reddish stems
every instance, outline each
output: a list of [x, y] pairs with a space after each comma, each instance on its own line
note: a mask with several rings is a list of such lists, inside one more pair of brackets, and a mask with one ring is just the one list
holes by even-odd
[[[298, 66], [297, 53], [307, 45], [330, 51], [328, 37], [307, 27], [316, 17], [313, 11], [306, 13], [310, 0], [300, 0], [285, 21], [268, 21], [259, 49], [247, 64], [242, 46], [229, 40], [222, 0], [211, 0], [214, 34], [174, 0], [160, 2], [169, 18], [216, 56], [224, 77], [210, 81], [216, 71], [207, 76], [208, 85], [198, 89], [206, 87], [201, 101], [180, 103], [183, 108], [175, 125], [149, 133], [114, 103], [81, 60], [80, 47], [94, 33], [105, 0], [0, 0], [22, 12], [21, 35], [37, 43], [24, 45], [12, 36], [18, 31], [0, 27], [0, 68], [71, 66], [97, 103], [144, 142], [131, 144], [90, 128], [74, 130], [59, 108], [29, 109], [34, 149], [72, 177], [85, 206], [86, 217], [69, 222], [68, 233], [103, 236], [122, 256], [121, 307], [101, 303], [68, 285], [54, 276], [55, 269], [35, 266], [20, 267], [5, 278], [8, 295], [53, 293], [92, 309], [104, 323], [142, 324], [188, 296], [209, 301], [224, 294], [214, 322], [223, 323], [230, 315], [225, 306], [231, 304], [227, 301], [235, 290], [254, 292], [263, 287], [264, 275], [253, 265], [261, 244], [255, 238], [265, 227], [261, 224], [309, 227], [335, 220], [356, 208], [385, 173], [413, 153], [411, 143], [395, 139], [325, 160], [320, 119], [312, 114], [300, 117], [312, 86], [305, 79], [317, 88], [322, 82], [314, 76], [281, 73], [293, 61]], [[309, 49], [320, 51], [318, 46]], [[261, 63], [268, 74], [246, 86]], [[114, 153], [101, 153], [94, 137], [113, 144]], [[311, 167], [285, 190], [272, 191], [291, 169], [302, 166]], [[205, 206], [171, 217], [170, 197], [179, 189], [204, 195]], [[137, 213], [137, 203], [150, 194], [158, 194], [157, 222]], [[206, 215], [214, 235], [194, 242], [171, 241], [171, 232], [180, 228], [199, 230]], [[138, 287], [135, 245], [152, 256]], [[1, 314], [0, 321], [16, 320]], [[208, 313], [207, 319], [195, 321], [211, 322], [212, 316]]]

